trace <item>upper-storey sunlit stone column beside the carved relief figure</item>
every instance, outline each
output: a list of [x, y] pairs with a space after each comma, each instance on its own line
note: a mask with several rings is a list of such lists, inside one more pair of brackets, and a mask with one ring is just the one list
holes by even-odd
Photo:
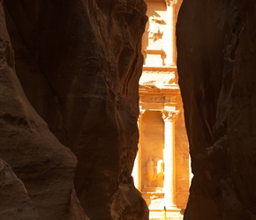
[[177, 4], [177, 0], [165, 0], [166, 2], [166, 22], [167, 28], [165, 30], [165, 39], [166, 39], [166, 59], [165, 64], [167, 66], [176, 66], [175, 60], [175, 51], [176, 51], [176, 43], [175, 43], [175, 4]]

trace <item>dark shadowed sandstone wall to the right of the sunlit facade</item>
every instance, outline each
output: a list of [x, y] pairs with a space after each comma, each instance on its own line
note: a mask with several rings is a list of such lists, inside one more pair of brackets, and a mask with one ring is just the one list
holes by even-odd
[[184, 0], [177, 67], [194, 178], [184, 219], [256, 219], [256, 4]]

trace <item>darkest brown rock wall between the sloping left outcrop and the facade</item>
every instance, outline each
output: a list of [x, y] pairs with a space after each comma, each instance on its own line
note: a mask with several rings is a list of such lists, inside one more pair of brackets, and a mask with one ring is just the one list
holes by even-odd
[[[77, 156], [74, 186], [87, 216], [147, 219], [147, 205], [131, 177], [138, 145], [140, 40], [147, 22], [144, 1], [6, 0], [4, 6], [17, 76], [50, 131]], [[62, 150], [51, 149], [53, 140], [40, 133], [46, 129], [43, 122], [34, 127], [30, 132], [35, 129], [37, 138], [49, 147], [39, 151], [49, 160], [34, 158], [34, 163], [66, 170], [64, 177], [72, 180], [76, 163], [72, 154], [57, 140], [54, 143]], [[50, 155], [57, 152], [63, 156], [53, 161]], [[11, 159], [4, 159], [16, 172]], [[49, 181], [60, 184], [56, 191], [63, 187], [72, 191], [71, 181], [67, 185]]]

